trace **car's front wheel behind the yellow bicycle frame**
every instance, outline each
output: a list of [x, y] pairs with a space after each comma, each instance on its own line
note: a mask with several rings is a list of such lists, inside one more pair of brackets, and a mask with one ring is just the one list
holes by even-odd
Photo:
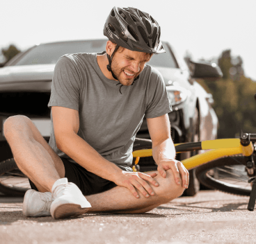
[[[195, 107], [195, 115], [193, 117], [193, 134], [191, 141], [199, 141], [200, 138], [200, 130], [199, 130], [199, 113], [198, 108]], [[198, 151], [188, 152], [186, 153], [186, 157], [191, 157], [197, 155]], [[200, 191], [200, 182], [198, 178], [195, 176], [195, 168], [189, 171], [189, 188], [186, 189], [183, 195], [193, 196]]]

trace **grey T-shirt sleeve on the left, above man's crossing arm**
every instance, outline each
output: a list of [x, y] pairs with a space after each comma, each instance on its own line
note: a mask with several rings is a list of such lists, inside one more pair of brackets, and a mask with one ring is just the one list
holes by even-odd
[[54, 68], [48, 107], [59, 106], [79, 110], [81, 78], [76, 63], [66, 55]]

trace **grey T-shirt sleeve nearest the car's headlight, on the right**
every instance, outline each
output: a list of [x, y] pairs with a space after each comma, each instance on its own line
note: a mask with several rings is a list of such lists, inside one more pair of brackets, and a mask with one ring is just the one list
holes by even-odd
[[147, 90], [145, 118], [155, 118], [173, 111], [167, 95], [163, 76], [161, 76], [161, 73], [156, 69], [152, 68], [152, 74]]

